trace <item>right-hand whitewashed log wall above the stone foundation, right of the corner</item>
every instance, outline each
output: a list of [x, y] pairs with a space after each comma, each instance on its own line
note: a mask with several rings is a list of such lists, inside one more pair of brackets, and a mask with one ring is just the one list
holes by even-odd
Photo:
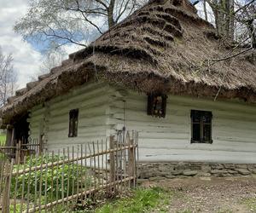
[[[169, 95], [166, 118], [154, 118], [147, 115], [146, 95], [127, 92], [123, 100], [111, 105], [114, 129], [125, 124], [127, 130], [139, 131], [140, 161], [256, 164], [255, 105]], [[212, 112], [212, 144], [190, 143], [191, 109]]]

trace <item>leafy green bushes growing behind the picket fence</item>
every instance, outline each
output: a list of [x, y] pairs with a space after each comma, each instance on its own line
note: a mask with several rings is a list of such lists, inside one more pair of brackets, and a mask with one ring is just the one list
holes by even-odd
[[[20, 168], [15, 165], [14, 171], [60, 161], [61, 159], [63, 158], [58, 156], [54, 156], [54, 158], [49, 158], [49, 156], [30, 158], [24, 165], [20, 165]], [[85, 172], [85, 167], [80, 164], [62, 164], [53, 168], [31, 171], [12, 178], [11, 196], [14, 197], [16, 193], [16, 197], [20, 199], [23, 193], [24, 198], [32, 201], [38, 200], [40, 195], [44, 197], [42, 199], [48, 201], [61, 199], [61, 196], [67, 197], [73, 192], [77, 192], [79, 182]], [[90, 182], [89, 179], [84, 181], [85, 184]], [[22, 188], [22, 184], [24, 184], [24, 188]]]

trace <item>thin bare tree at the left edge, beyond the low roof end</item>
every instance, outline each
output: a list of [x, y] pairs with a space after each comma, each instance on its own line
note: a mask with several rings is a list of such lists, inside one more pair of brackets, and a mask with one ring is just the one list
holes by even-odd
[[9, 96], [15, 94], [17, 76], [13, 60], [13, 56], [4, 55], [0, 47], [0, 106], [6, 103]]

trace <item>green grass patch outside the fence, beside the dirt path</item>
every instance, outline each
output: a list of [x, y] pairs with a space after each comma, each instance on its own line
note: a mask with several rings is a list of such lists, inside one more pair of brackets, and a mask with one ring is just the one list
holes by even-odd
[[166, 206], [170, 203], [171, 193], [160, 188], [137, 188], [129, 198], [118, 199], [96, 209], [96, 213], [141, 213], [148, 210], [167, 212]]

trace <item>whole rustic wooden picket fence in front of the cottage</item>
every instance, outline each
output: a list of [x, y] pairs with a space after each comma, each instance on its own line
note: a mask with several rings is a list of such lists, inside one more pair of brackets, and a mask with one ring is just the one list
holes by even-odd
[[[137, 133], [122, 132], [55, 152], [0, 160], [1, 209], [52, 212], [125, 193], [137, 181]], [[60, 205], [61, 204], [61, 205]]]

